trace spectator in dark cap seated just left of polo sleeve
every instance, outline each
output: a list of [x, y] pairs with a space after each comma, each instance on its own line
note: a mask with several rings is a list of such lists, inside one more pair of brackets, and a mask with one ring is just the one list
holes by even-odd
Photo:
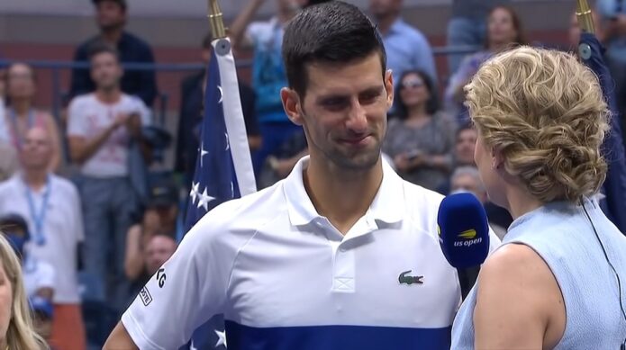
[[132, 282], [134, 297], [148, 282], [151, 274], [146, 271], [146, 248], [155, 236], [177, 237], [178, 190], [171, 181], [153, 184], [150, 189], [149, 206], [143, 213], [141, 223], [133, 225], [126, 236], [124, 272]]

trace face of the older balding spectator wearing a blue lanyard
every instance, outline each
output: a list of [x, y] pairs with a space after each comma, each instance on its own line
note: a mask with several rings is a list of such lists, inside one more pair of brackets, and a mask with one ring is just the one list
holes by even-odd
[[50, 165], [52, 146], [48, 131], [34, 127], [26, 132], [20, 158], [25, 170], [45, 170]]

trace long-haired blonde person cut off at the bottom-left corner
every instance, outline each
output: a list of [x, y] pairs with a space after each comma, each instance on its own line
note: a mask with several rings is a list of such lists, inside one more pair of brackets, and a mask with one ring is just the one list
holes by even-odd
[[20, 261], [0, 235], [0, 349], [43, 349], [45, 342], [32, 328]]

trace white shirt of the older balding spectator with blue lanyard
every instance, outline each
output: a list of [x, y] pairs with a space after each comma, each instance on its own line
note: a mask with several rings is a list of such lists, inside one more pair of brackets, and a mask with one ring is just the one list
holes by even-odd
[[[52, 301], [60, 304], [79, 303], [77, 245], [84, 238], [84, 227], [78, 191], [74, 184], [57, 175], [50, 175], [50, 187], [50, 198], [43, 221], [45, 243], [39, 246], [31, 239], [26, 249], [29, 255], [54, 268], [57, 278]], [[38, 211], [47, 190], [43, 188], [39, 193], [32, 193], [34, 207]], [[35, 220], [26, 196], [26, 184], [20, 173], [0, 184], [0, 215], [9, 213], [21, 215], [28, 223], [33, 237]]]

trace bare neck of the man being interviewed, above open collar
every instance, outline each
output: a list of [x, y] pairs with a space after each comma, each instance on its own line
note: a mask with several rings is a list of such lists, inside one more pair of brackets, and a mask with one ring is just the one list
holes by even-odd
[[304, 171], [304, 188], [313, 206], [346, 234], [374, 201], [383, 180], [382, 160], [363, 171], [346, 171], [309, 160]]

